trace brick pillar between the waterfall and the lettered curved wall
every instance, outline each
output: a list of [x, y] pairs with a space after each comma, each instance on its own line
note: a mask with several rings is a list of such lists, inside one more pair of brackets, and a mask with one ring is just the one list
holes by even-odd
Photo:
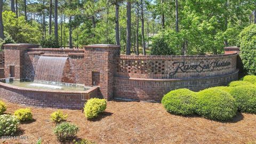
[[96, 44], [84, 46], [85, 85], [99, 86], [99, 96], [113, 99], [115, 57], [120, 55], [120, 46]]

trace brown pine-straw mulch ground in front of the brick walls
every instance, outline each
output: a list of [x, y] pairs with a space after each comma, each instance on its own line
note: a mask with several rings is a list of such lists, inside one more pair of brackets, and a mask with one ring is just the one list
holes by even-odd
[[[7, 113], [26, 106], [6, 102]], [[59, 143], [50, 114], [56, 109], [30, 107], [35, 121], [21, 124], [18, 135], [29, 140], [8, 143]], [[256, 143], [256, 115], [238, 113], [227, 123], [198, 116], [167, 113], [161, 103], [109, 101], [106, 112], [88, 121], [82, 110], [64, 110], [68, 121], [79, 126], [78, 138], [97, 143]], [[0, 140], [2, 142], [3, 140]]]

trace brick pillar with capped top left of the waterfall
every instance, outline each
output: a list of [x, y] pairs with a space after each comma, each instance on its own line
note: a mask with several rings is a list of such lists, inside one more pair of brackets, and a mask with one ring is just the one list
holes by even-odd
[[11, 68], [11, 73], [14, 73], [15, 79], [25, 79], [25, 53], [29, 48], [38, 46], [35, 44], [5, 44], [5, 77], [9, 77]]

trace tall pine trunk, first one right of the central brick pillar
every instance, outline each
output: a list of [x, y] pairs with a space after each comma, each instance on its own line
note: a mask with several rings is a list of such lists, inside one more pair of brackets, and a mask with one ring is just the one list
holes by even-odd
[[127, 17], [127, 26], [126, 26], [126, 55], [131, 55], [131, 2], [127, 0], [126, 6], [126, 17]]

